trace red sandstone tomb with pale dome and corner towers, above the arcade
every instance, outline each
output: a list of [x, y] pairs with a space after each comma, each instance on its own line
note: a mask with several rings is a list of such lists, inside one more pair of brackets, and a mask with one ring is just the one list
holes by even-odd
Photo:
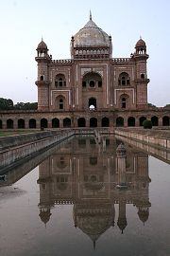
[[39, 110], [138, 110], [147, 107], [146, 46], [140, 39], [130, 58], [112, 58], [111, 37], [92, 17], [71, 40], [71, 59], [52, 60], [37, 47]]

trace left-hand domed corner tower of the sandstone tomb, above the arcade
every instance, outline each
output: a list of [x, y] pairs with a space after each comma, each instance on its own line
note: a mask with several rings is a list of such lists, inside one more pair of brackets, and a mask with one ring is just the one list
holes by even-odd
[[38, 78], [35, 82], [38, 86], [38, 109], [49, 109], [49, 68], [51, 58], [48, 55], [48, 48], [42, 41], [37, 47]]

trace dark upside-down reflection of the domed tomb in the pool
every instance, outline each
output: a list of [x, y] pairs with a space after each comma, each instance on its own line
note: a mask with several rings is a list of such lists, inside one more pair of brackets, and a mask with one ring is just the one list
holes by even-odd
[[[146, 222], [151, 206], [148, 155], [120, 145], [114, 138], [107, 141], [104, 151], [103, 144], [97, 144], [93, 137], [75, 138], [69, 143], [39, 166], [42, 222], [50, 221], [50, 209], [55, 205], [74, 204], [75, 227], [86, 233], [93, 244], [114, 226], [114, 221], [123, 233], [127, 204], [137, 208], [139, 219]], [[117, 185], [126, 185], [126, 189], [120, 190]]]

